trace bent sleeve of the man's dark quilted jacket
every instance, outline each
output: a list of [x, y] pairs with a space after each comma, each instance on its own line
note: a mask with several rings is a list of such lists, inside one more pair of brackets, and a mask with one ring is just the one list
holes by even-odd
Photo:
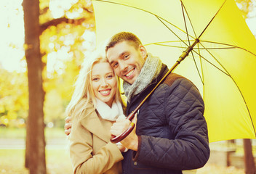
[[175, 138], [140, 136], [135, 160], [172, 170], [202, 167], [209, 159], [209, 143], [201, 95], [185, 78], [164, 88], [164, 113]]

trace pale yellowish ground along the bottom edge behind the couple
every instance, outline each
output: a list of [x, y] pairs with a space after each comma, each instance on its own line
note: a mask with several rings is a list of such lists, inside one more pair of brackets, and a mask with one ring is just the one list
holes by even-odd
[[[24, 167], [24, 157], [24, 149], [0, 149], [0, 174], [28, 174]], [[72, 173], [69, 155], [65, 149], [47, 149], [46, 159], [47, 174]], [[197, 170], [196, 174], [244, 174], [244, 170], [207, 164]]]

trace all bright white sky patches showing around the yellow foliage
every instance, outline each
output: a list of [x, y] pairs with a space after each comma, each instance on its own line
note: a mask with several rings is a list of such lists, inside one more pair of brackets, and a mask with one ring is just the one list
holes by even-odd
[[[1, 0], [0, 1], [0, 68], [4, 68], [10, 72], [25, 72], [26, 62], [24, 59], [24, 23], [23, 23], [23, 0]], [[68, 9], [72, 3], [77, 0], [51, 0], [50, 8], [52, 8], [53, 17], [60, 17], [64, 13], [64, 9]], [[256, 1], [254, 1], [256, 3]], [[255, 16], [246, 20], [252, 33], [256, 36], [256, 9], [250, 16]], [[95, 39], [93, 33], [87, 33], [91, 39]], [[86, 43], [85, 43], [86, 44]], [[63, 53], [65, 55], [65, 53]], [[56, 61], [52, 54], [49, 60]], [[61, 55], [63, 57], [63, 55]], [[56, 65], [55, 62], [49, 61], [47, 71], [52, 71]]]

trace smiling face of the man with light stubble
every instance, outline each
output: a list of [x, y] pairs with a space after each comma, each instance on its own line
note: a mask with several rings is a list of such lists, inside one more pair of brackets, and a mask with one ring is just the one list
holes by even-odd
[[135, 49], [128, 41], [116, 43], [107, 51], [108, 61], [116, 75], [130, 84], [134, 83], [140, 74], [146, 55], [144, 46]]

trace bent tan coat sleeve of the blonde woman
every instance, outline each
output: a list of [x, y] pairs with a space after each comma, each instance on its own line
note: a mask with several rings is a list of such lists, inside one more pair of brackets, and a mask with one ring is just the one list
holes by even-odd
[[111, 142], [93, 155], [92, 133], [81, 124], [72, 129], [69, 139], [73, 173], [105, 173], [123, 159], [116, 144]]

